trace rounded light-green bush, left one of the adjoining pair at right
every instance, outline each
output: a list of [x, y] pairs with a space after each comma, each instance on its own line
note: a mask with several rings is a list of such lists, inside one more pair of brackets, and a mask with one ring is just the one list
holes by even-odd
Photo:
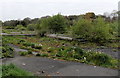
[[93, 26], [89, 20], [80, 19], [75, 23], [71, 30], [73, 37], [89, 39], [93, 31]]

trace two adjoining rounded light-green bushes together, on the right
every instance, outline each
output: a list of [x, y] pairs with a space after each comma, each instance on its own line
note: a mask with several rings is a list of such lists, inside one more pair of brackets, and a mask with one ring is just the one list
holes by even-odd
[[110, 33], [110, 26], [101, 17], [91, 22], [81, 19], [71, 28], [72, 36], [93, 42], [103, 43], [114, 38]]

